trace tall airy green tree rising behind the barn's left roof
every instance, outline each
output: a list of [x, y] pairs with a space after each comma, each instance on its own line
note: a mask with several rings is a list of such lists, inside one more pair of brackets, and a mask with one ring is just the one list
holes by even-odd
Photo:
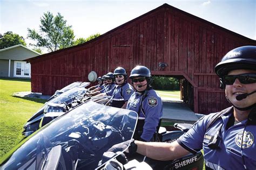
[[53, 16], [48, 11], [41, 17], [40, 22], [39, 32], [28, 28], [28, 37], [36, 41], [34, 46], [53, 52], [73, 45], [75, 36], [71, 29], [72, 26], [66, 24], [66, 20], [60, 13]]

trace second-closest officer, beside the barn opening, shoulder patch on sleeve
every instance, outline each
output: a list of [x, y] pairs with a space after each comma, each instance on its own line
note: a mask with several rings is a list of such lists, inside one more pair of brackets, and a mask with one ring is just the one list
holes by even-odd
[[134, 67], [131, 70], [130, 79], [135, 91], [131, 95], [126, 109], [136, 111], [139, 116], [134, 139], [152, 141], [163, 116], [161, 98], [150, 86], [152, 77], [147, 67]]

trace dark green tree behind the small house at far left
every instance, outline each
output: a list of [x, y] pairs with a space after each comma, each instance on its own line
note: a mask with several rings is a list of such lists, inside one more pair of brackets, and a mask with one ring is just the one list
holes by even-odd
[[22, 36], [18, 34], [12, 33], [11, 31], [5, 32], [3, 37], [0, 38], [0, 49], [15, 46], [15, 45], [24, 45], [26, 46], [26, 42]]

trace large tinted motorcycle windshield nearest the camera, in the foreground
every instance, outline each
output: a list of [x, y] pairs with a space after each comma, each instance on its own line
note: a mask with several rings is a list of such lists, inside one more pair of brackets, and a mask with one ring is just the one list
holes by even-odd
[[132, 138], [137, 117], [86, 102], [24, 139], [0, 160], [0, 169], [96, 169], [107, 161], [104, 152]]

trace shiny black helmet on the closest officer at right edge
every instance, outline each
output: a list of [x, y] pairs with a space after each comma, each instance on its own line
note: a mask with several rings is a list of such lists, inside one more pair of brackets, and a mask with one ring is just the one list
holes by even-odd
[[215, 73], [223, 77], [231, 70], [256, 70], [256, 46], [242, 46], [232, 49], [215, 66]]

